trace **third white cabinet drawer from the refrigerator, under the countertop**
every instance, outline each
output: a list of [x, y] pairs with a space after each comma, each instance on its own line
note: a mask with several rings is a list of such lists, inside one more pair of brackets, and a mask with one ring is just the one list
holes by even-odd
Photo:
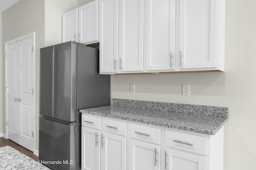
[[161, 130], [154, 127], [130, 124], [130, 137], [160, 145]]

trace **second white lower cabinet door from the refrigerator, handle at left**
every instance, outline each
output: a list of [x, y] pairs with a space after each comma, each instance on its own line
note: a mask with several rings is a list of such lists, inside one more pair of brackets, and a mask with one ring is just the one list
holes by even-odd
[[102, 132], [102, 170], [126, 170], [126, 137]]

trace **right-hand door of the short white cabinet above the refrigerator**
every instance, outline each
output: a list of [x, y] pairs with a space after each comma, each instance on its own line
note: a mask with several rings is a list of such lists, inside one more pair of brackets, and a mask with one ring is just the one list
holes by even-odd
[[78, 8], [78, 41], [98, 41], [98, 0]]

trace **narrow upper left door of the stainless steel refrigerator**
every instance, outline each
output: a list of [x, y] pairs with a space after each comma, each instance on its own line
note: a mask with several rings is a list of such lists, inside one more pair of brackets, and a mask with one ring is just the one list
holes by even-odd
[[54, 46], [40, 49], [40, 115], [53, 117]]

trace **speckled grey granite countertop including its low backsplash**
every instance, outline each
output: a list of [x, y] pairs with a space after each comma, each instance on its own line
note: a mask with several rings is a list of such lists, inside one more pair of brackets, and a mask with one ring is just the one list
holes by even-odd
[[[216, 134], [228, 121], [228, 109], [226, 107], [123, 99], [113, 99], [113, 104], [81, 109], [80, 112], [209, 135]], [[183, 105], [184, 107], [182, 107]], [[147, 107], [144, 108], [144, 106]], [[160, 110], [160, 108], [162, 109]], [[198, 113], [194, 112], [197, 110]]]

